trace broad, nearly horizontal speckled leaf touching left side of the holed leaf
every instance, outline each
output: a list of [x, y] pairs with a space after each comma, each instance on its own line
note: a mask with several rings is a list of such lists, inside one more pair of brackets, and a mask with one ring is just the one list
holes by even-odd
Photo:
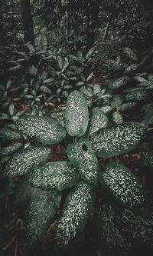
[[67, 161], [54, 161], [36, 168], [28, 175], [28, 181], [36, 188], [70, 188], [79, 181], [76, 168]]

